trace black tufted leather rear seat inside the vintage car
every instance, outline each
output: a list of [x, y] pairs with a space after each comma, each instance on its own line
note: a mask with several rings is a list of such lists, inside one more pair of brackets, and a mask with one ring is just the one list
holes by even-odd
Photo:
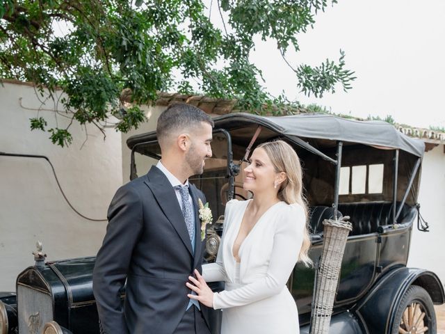
[[[343, 203], [339, 204], [339, 211], [343, 216], [350, 216], [353, 231], [349, 235], [359, 235], [377, 232], [380, 225], [391, 225], [392, 207], [392, 202]], [[412, 210], [412, 207], [403, 205], [397, 223], [403, 223], [405, 217], [412, 216]]]

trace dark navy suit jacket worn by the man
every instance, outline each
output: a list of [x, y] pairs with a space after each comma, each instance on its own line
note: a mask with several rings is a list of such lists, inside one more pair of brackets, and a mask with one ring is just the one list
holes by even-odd
[[[190, 192], [195, 205], [195, 252], [175, 189], [159, 168], [153, 166], [147, 175], [124, 184], [116, 192], [93, 272], [93, 292], [103, 333], [175, 331], [189, 301], [188, 276], [194, 269], [202, 271], [204, 253], [197, 199], [206, 201], [193, 184]], [[122, 306], [119, 291], [125, 280], [127, 291]], [[203, 312], [205, 318], [206, 310]]]

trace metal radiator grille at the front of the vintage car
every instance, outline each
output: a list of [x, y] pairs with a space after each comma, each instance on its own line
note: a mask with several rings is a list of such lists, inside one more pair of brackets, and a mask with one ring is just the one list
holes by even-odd
[[39, 290], [17, 286], [17, 307], [20, 334], [43, 333], [43, 326], [53, 319], [51, 296]]

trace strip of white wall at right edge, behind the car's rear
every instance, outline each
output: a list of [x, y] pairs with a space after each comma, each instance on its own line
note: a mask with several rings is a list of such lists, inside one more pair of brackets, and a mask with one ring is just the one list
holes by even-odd
[[434, 271], [445, 284], [444, 145], [438, 145], [423, 156], [419, 203], [430, 232], [420, 232], [413, 227], [408, 266]]

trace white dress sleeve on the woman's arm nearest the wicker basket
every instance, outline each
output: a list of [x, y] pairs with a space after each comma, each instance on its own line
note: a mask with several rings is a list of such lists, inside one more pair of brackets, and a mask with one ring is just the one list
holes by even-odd
[[213, 294], [213, 308], [247, 305], [279, 294], [286, 287], [302, 246], [305, 214], [298, 204], [289, 205], [276, 217], [273, 250], [266, 276], [230, 291]]

